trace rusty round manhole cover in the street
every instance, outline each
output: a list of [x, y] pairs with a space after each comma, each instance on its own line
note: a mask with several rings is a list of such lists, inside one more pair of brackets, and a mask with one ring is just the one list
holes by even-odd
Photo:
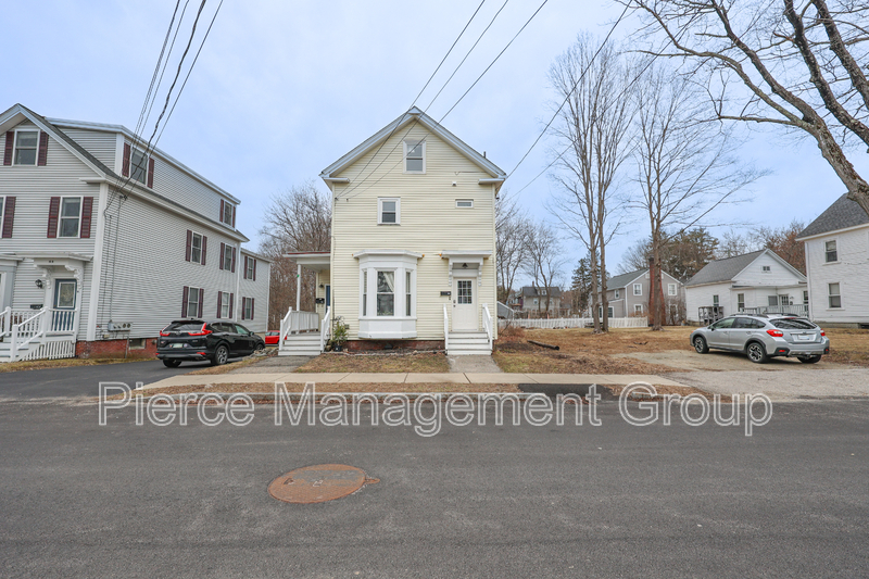
[[285, 503], [324, 503], [356, 492], [363, 484], [380, 482], [361, 468], [348, 465], [315, 465], [290, 470], [272, 481], [268, 494]]

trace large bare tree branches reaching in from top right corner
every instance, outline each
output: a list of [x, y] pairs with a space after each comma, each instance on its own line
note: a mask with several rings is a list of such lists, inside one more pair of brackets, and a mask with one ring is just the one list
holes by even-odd
[[646, 16], [648, 53], [693, 64], [716, 118], [810, 136], [848, 198], [869, 213], [869, 182], [846, 154], [869, 147], [869, 4], [620, 1]]

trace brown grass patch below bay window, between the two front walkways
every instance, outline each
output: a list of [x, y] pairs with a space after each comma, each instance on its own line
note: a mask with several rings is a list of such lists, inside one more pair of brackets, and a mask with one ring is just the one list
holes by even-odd
[[362, 373], [403, 373], [420, 374], [448, 373], [450, 364], [439, 352], [417, 352], [415, 354], [322, 354], [295, 372], [362, 372]]

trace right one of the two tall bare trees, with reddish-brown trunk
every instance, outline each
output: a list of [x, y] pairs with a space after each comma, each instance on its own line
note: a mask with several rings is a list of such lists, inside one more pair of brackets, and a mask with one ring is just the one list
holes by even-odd
[[738, 163], [732, 154], [738, 143], [728, 131], [698, 121], [708, 113], [690, 77], [662, 64], [652, 66], [635, 98], [633, 160], [640, 194], [632, 204], [648, 219], [648, 313], [652, 329], [660, 330], [666, 317], [660, 282], [666, 229], [693, 227], [761, 173]]

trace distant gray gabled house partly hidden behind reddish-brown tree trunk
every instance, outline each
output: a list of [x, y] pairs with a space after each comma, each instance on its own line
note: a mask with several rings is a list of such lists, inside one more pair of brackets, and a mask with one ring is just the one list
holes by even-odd
[[[660, 273], [664, 288], [666, 324], [681, 324], [684, 315], [684, 284], [668, 274]], [[648, 269], [637, 269], [606, 280], [606, 298], [609, 301], [609, 317], [648, 315], [651, 279]], [[603, 309], [599, 311], [603, 315]]]

